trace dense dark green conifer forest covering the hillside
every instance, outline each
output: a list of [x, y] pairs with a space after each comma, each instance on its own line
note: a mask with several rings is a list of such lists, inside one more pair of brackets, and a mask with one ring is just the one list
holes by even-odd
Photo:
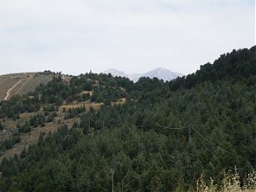
[[[4, 120], [34, 113], [3, 140], [2, 152], [35, 127], [42, 134], [3, 158], [0, 191], [193, 191], [200, 177], [220, 189], [235, 166], [243, 185], [256, 170], [255, 67], [254, 46], [170, 82], [85, 73], [1, 102], [0, 129]], [[60, 121], [46, 134], [60, 111], [72, 127]]]

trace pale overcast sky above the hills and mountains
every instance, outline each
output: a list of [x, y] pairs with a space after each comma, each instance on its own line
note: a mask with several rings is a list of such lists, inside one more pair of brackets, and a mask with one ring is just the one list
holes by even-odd
[[255, 45], [255, 0], [1, 0], [0, 74], [194, 73]]

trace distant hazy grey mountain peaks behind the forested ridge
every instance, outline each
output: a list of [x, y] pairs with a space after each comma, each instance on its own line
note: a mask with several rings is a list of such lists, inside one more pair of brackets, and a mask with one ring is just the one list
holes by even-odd
[[158, 67], [154, 70], [148, 71], [146, 73], [133, 73], [133, 74], [126, 74], [114, 68], [109, 68], [108, 70], [104, 71], [103, 73], [111, 73], [113, 76], [121, 76], [125, 78], [129, 78], [134, 82], [137, 82], [138, 79], [141, 77], [148, 77], [150, 79], [158, 78], [163, 79], [164, 81], [170, 81], [172, 79], [176, 79], [178, 76], [183, 76], [182, 73], [175, 73], [166, 68]]

